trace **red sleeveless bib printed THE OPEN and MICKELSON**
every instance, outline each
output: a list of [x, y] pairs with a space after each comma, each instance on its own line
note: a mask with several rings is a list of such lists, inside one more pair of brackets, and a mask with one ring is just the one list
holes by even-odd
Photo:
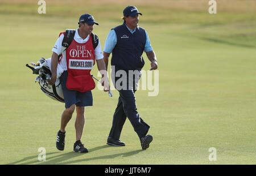
[[67, 58], [68, 79], [66, 87], [79, 92], [90, 91], [95, 88], [95, 83], [90, 71], [95, 64], [95, 54], [92, 36], [84, 44], [79, 44], [74, 39], [65, 50]]

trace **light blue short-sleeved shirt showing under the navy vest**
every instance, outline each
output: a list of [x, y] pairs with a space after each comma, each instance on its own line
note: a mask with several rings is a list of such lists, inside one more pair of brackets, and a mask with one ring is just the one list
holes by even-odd
[[[126, 24], [125, 24], [126, 25]], [[126, 25], [127, 27], [127, 25]], [[127, 29], [131, 32], [131, 33], [134, 33], [136, 28], [133, 30], [131, 30], [130, 28], [127, 27]], [[145, 31], [146, 32], [146, 31]], [[144, 51], [145, 52], [148, 52], [148, 51], [152, 51], [152, 47], [151, 47], [151, 44], [150, 44], [150, 40], [147, 36], [147, 32], [146, 32], [146, 44], [145, 44], [145, 48], [144, 48]], [[115, 45], [117, 44], [117, 34], [115, 33], [114, 29], [112, 29], [110, 32], [109, 32], [109, 35], [108, 37], [106, 38], [106, 41], [105, 41], [105, 45], [104, 45], [104, 49], [103, 51], [105, 53], [112, 53], [113, 49], [115, 48]]]

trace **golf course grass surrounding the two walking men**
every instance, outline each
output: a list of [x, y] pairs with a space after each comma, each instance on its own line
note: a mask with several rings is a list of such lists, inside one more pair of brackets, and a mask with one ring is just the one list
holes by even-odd
[[[46, 14], [38, 14], [37, 1], [0, 2], [0, 164], [256, 164], [255, 1], [217, 1], [217, 14], [208, 13], [206, 0], [46, 2]], [[51, 57], [59, 33], [77, 28], [84, 13], [100, 24], [93, 32], [103, 50], [127, 5], [142, 12], [139, 25], [158, 58], [158, 96], [136, 92], [154, 140], [143, 151], [127, 119], [121, 134], [126, 146], [106, 145], [118, 91], [110, 98], [96, 88], [82, 136], [89, 153], [72, 152], [76, 113], [66, 128], [65, 150], [58, 151], [64, 104], [44, 95], [25, 65]], [[96, 66], [92, 73], [97, 75]], [[46, 161], [38, 160], [40, 147]], [[211, 147], [217, 161], [209, 161]]]

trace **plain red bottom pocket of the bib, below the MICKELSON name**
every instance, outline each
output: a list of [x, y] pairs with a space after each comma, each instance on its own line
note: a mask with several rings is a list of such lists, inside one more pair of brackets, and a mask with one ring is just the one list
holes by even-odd
[[75, 90], [79, 92], [91, 91], [95, 88], [94, 80], [90, 74], [88, 75], [77, 75], [74, 76], [68, 73], [68, 79], [66, 83], [66, 87], [69, 90]]

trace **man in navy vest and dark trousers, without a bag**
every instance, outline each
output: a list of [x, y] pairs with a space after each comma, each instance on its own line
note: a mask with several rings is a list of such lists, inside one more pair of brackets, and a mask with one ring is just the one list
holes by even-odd
[[[115, 88], [119, 91], [118, 104], [113, 115], [112, 128], [107, 144], [114, 146], [125, 145], [119, 138], [127, 117], [141, 140], [142, 149], [147, 149], [153, 138], [151, 135], [147, 135], [150, 126], [143, 121], [137, 111], [134, 93], [137, 90], [141, 77], [141, 69], [144, 66], [143, 51], [146, 52], [151, 62], [150, 70], [157, 69], [158, 63], [150, 45], [147, 32], [138, 26], [139, 15], [142, 14], [136, 7], [127, 6], [123, 10], [123, 24], [112, 29], [105, 41], [104, 61], [106, 68], [108, 68], [109, 55], [112, 53], [111, 76]], [[120, 71], [126, 74], [118, 74]], [[129, 71], [137, 71], [139, 74], [135, 74], [129, 78]], [[117, 85], [117, 83], [120, 83], [118, 81], [119, 79], [123, 80], [123, 76], [126, 77], [125, 81], [127, 83]], [[127, 84], [127, 87], [123, 86], [125, 84]]]

